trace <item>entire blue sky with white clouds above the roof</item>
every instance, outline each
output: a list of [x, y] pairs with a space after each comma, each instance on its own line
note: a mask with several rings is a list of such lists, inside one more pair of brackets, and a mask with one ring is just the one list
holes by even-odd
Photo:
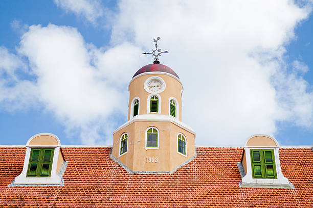
[[158, 36], [196, 145], [313, 143], [312, 1], [3, 0], [0, 28], [0, 144], [112, 144]]

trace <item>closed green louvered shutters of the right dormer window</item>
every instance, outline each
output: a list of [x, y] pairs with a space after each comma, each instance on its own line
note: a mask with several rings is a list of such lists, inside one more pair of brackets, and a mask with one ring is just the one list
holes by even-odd
[[277, 178], [273, 149], [250, 149], [253, 178]]

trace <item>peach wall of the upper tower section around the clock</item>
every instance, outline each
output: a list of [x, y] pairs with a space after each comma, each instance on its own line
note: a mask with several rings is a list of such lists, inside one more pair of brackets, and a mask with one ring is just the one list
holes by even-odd
[[130, 107], [131, 101], [135, 97], [140, 98], [140, 112], [139, 114], [147, 114], [147, 98], [150, 93], [144, 89], [144, 83], [150, 76], [161, 77], [166, 85], [163, 92], [159, 93], [162, 98], [161, 102], [161, 114], [169, 115], [169, 98], [174, 97], [178, 101], [178, 120], [182, 120], [182, 98], [181, 91], [183, 87], [180, 82], [166, 74], [145, 74], [137, 77], [135, 80], [131, 81], [129, 85], [129, 102], [128, 102], [128, 120], [130, 119]]

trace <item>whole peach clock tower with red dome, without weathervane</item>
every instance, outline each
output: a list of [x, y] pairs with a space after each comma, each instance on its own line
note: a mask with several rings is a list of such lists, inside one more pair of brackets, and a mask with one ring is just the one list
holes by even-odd
[[129, 172], [169, 173], [195, 157], [195, 132], [182, 122], [183, 84], [168, 66], [133, 75], [128, 121], [113, 132], [111, 158]]

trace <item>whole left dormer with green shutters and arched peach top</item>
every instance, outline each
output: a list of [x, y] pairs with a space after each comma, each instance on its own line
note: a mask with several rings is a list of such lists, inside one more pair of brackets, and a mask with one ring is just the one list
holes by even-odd
[[65, 164], [60, 147], [59, 138], [53, 134], [41, 133], [31, 137], [26, 144], [23, 171], [11, 186], [61, 185], [58, 172]]

